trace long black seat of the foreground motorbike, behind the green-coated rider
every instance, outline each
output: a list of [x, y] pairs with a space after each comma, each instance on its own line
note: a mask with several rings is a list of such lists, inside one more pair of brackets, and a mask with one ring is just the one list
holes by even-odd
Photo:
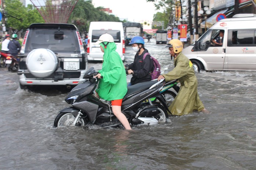
[[134, 84], [132, 86], [128, 86], [127, 87], [127, 93], [124, 96], [124, 98], [128, 97], [131, 94], [135, 94], [139, 91], [145, 90], [145, 89], [151, 87], [153, 84], [155, 84], [157, 82], [158, 82], [157, 80], [153, 80], [153, 81], [149, 81], [149, 82], [142, 82], [142, 83]]

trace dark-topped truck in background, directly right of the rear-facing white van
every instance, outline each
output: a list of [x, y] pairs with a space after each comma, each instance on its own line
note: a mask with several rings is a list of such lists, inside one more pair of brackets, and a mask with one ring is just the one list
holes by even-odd
[[125, 45], [128, 45], [134, 36], [143, 36], [143, 26], [138, 22], [125, 22], [124, 35], [125, 35]]

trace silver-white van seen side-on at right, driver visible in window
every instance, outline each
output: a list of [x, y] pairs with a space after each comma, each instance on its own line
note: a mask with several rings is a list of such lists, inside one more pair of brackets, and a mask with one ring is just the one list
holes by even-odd
[[[213, 44], [223, 31], [222, 45]], [[220, 20], [182, 53], [195, 71], [256, 71], [256, 15]]]

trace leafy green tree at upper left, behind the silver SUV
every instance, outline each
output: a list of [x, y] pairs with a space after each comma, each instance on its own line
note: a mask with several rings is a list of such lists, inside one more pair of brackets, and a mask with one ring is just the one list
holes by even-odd
[[25, 30], [32, 23], [44, 23], [43, 17], [34, 7], [29, 4], [28, 7], [22, 5], [19, 0], [6, 0], [6, 18], [7, 28], [12, 27], [15, 30]]

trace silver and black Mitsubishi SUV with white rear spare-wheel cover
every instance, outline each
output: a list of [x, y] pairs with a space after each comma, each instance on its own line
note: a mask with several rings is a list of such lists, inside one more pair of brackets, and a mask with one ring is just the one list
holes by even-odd
[[71, 88], [84, 81], [87, 54], [73, 24], [31, 24], [20, 53], [18, 75], [22, 89], [35, 85]]

